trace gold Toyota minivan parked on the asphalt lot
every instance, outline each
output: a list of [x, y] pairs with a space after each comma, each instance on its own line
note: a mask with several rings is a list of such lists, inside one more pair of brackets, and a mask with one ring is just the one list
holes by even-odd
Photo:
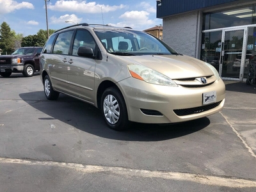
[[53, 33], [40, 55], [47, 99], [65, 93], [99, 108], [115, 130], [129, 122], [171, 124], [223, 108], [225, 84], [212, 65], [131, 28], [76, 24]]

